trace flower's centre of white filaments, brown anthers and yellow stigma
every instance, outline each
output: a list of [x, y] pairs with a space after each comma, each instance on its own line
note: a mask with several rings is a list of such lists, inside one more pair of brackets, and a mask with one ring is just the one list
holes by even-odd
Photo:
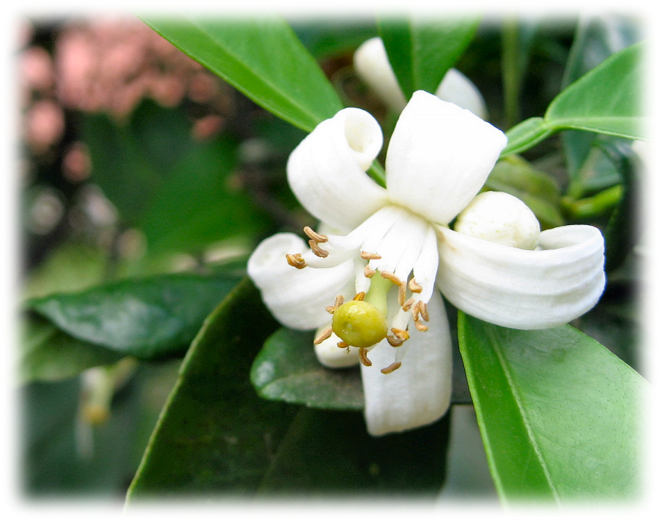
[[[386, 206], [348, 235], [322, 235], [308, 226], [304, 232], [310, 249], [288, 254], [292, 267], [332, 267], [352, 260], [356, 270], [356, 296], [344, 303], [339, 295], [327, 307], [332, 325], [316, 344], [334, 332], [341, 339], [338, 347], [357, 347], [361, 362], [371, 365], [367, 353], [382, 340], [400, 347], [410, 338], [411, 322], [418, 331], [429, 329], [424, 323], [429, 320], [427, 302], [438, 270], [437, 237], [430, 222], [404, 208]], [[403, 353], [397, 349], [395, 362], [381, 372], [397, 369]]]

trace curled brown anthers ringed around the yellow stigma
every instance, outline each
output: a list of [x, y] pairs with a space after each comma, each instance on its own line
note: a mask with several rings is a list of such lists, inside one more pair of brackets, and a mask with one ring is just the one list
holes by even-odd
[[[329, 251], [322, 249], [319, 246], [319, 244], [328, 242], [329, 241], [328, 236], [315, 232], [309, 226], [305, 226], [303, 231], [309, 238], [308, 245], [311, 248], [313, 254], [320, 258], [326, 258], [329, 255]], [[365, 261], [378, 260], [381, 258], [379, 254], [371, 253], [369, 251], [361, 251], [360, 256]], [[297, 268], [298, 270], [302, 270], [302, 268], [307, 266], [307, 263], [304, 260], [302, 254], [287, 254], [286, 261], [289, 263], [289, 265]], [[376, 273], [377, 270], [370, 267], [370, 264], [367, 263], [367, 265], [364, 268], [364, 276], [367, 277], [368, 279], [371, 279]], [[422, 323], [422, 321], [424, 322], [429, 321], [427, 304], [421, 301], [420, 299], [416, 299], [414, 296], [422, 292], [422, 286], [420, 286], [415, 281], [414, 277], [409, 281], [402, 281], [402, 279], [399, 279], [399, 277], [392, 272], [381, 271], [380, 274], [383, 277], [383, 279], [387, 279], [395, 286], [397, 286], [397, 301], [399, 303], [399, 306], [401, 306], [401, 309], [402, 311], [404, 311], [404, 313], [411, 313], [413, 318], [413, 323], [415, 324], [415, 329], [417, 329], [418, 331], [427, 331], [429, 327], [426, 324]], [[406, 292], [408, 290], [413, 294], [413, 296], [406, 299]], [[364, 299], [365, 299], [365, 292], [359, 292], [353, 297], [352, 300], [363, 301]], [[328, 306], [326, 308], [326, 311], [332, 315], [333, 313], [335, 313], [335, 311], [338, 308], [343, 306], [343, 304], [344, 304], [343, 295], [338, 295], [334, 301], [334, 304], [332, 306]], [[410, 338], [410, 333], [408, 332], [407, 325], [406, 325], [406, 329], [399, 329], [396, 327], [392, 327], [390, 331], [392, 333], [386, 335], [385, 338], [392, 347], [400, 347], [404, 342], [406, 342], [406, 340], [409, 340]], [[315, 338], [314, 343], [318, 345], [321, 342], [324, 342], [325, 340], [330, 338], [332, 333], [333, 333], [333, 326], [328, 326], [317, 336], [317, 338]], [[345, 342], [345, 340], [340, 340], [339, 342], [337, 342], [337, 347], [348, 350], [350, 347], [353, 346], [349, 345], [349, 343]], [[370, 349], [371, 347], [372, 346], [358, 347], [358, 356], [360, 358], [360, 361], [361, 363], [363, 363], [363, 365], [368, 367], [372, 365], [372, 362], [369, 360], [367, 356], [368, 349]], [[388, 374], [390, 372], [397, 370], [399, 367], [401, 367], [401, 362], [395, 361], [394, 363], [388, 365], [388, 367], [384, 367], [383, 369], [381, 369], [381, 372], [383, 374]]]

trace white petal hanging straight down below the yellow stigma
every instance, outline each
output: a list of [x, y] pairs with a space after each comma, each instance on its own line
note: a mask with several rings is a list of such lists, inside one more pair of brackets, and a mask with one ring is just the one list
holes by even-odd
[[361, 366], [365, 420], [372, 436], [422, 427], [442, 417], [452, 395], [452, 339], [438, 292], [429, 301], [429, 331], [411, 328], [408, 350], [399, 369], [380, 370], [395, 361], [396, 348], [386, 340], [369, 352]]

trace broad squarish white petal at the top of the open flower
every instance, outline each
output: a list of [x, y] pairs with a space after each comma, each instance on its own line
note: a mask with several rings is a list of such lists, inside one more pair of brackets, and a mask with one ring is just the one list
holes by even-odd
[[477, 195], [505, 145], [502, 131], [469, 110], [415, 92], [388, 147], [390, 199], [447, 224]]

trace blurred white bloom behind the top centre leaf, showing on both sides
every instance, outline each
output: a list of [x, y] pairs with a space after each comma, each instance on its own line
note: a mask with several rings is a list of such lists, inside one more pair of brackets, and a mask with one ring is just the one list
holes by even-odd
[[[358, 77], [376, 92], [390, 110], [399, 113], [406, 106], [404, 96], [387, 58], [383, 40], [371, 38], [355, 51], [353, 66]], [[449, 69], [438, 85], [436, 96], [486, 119], [486, 103], [475, 85], [456, 69]]]

